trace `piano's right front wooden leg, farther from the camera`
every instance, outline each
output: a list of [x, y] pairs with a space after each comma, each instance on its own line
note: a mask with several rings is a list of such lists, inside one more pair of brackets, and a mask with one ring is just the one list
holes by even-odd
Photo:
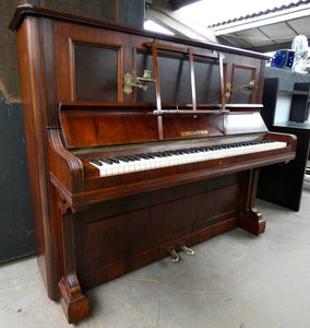
[[251, 169], [242, 175], [241, 209], [239, 211], [239, 226], [253, 235], [265, 231], [266, 222], [255, 208], [255, 197], [259, 180], [259, 168]]

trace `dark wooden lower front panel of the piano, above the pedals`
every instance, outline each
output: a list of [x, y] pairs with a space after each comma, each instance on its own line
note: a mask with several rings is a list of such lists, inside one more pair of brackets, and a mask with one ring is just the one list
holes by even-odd
[[90, 208], [78, 236], [82, 286], [163, 258], [167, 247], [179, 250], [182, 242], [192, 246], [236, 227], [238, 195], [234, 174]]

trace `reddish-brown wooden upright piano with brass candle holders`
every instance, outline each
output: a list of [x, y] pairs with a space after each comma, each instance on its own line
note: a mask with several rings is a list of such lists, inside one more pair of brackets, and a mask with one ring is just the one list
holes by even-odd
[[22, 5], [16, 32], [37, 258], [69, 323], [85, 290], [235, 227], [296, 138], [260, 115], [266, 56]]

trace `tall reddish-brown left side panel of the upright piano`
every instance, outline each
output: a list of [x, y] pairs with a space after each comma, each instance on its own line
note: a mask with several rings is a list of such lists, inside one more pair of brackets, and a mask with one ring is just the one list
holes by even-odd
[[[61, 277], [61, 250], [59, 225], [50, 220], [55, 195], [48, 188], [46, 131], [48, 109], [46, 80], [43, 70], [43, 26], [34, 16], [28, 16], [16, 32], [19, 71], [23, 98], [23, 116], [28, 162], [29, 186], [36, 235], [37, 262], [51, 300], [58, 300], [57, 283]], [[52, 86], [51, 86], [52, 87]]]

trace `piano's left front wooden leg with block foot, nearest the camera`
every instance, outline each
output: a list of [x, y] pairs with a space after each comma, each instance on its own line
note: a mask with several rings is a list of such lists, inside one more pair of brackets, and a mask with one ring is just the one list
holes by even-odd
[[88, 298], [83, 294], [75, 268], [75, 221], [65, 200], [59, 201], [59, 213], [62, 225], [63, 277], [59, 282], [60, 302], [70, 324], [88, 315]]

